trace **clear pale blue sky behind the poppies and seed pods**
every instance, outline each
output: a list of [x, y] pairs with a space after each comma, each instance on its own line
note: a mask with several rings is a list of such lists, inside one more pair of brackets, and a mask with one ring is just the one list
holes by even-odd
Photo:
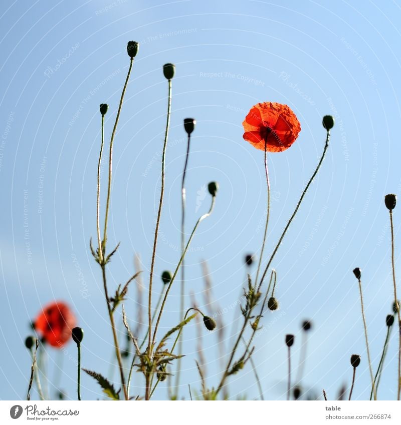
[[[133, 0], [22, 2], [3, 0], [0, 11], [0, 398], [24, 398], [30, 357], [24, 346], [41, 305], [62, 299], [85, 329], [82, 365], [118, 381], [101, 273], [89, 251], [96, 235], [96, 170], [100, 148], [99, 104], [108, 103], [106, 139], [114, 123], [129, 58], [126, 44], [140, 43], [115, 139], [109, 244], [121, 241], [109, 265], [110, 292], [142, 259], [144, 297], [160, 190], [167, 82], [162, 65], [176, 66], [166, 193], [156, 275], [173, 269], [179, 254], [180, 179], [184, 163], [182, 120], [196, 118], [187, 172], [187, 232], [209, 209], [204, 185], [220, 184], [216, 208], [196, 233], [186, 259], [185, 305], [196, 303], [226, 326], [239, 326], [238, 299], [245, 284], [244, 255], [258, 252], [266, 208], [263, 152], [242, 139], [252, 105], [289, 105], [302, 131], [283, 153], [269, 155], [272, 251], [323, 150], [323, 115], [335, 116], [329, 150], [273, 262], [280, 310], [268, 311], [255, 339], [254, 361], [265, 398], [284, 399], [284, 335], [313, 321], [303, 384], [321, 397], [349, 386], [350, 354], [362, 356], [355, 399], [369, 397], [369, 371], [357, 281], [362, 269], [366, 320], [374, 370], [392, 302], [390, 231], [386, 193], [401, 192], [399, 159], [401, 90], [399, 2]], [[103, 173], [106, 172], [104, 163]], [[103, 174], [103, 189], [106, 179]], [[199, 192], [200, 191], [200, 192]], [[198, 194], [200, 193], [200, 195]], [[104, 207], [104, 192], [102, 193]], [[198, 198], [198, 199], [197, 199]], [[199, 201], [200, 200], [200, 201]], [[200, 204], [200, 206], [198, 205]], [[401, 206], [398, 206], [401, 209]], [[394, 210], [399, 258], [400, 211]], [[102, 208], [102, 213], [104, 209]], [[215, 303], [207, 305], [200, 262], [207, 260]], [[397, 276], [401, 276], [399, 261]], [[255, 271], [255, 269], [253, 269]], [[162, 329], [178, 320], [173, 286]], [[156, 279], [155, 296], [162, 283]], [[235, 307], [233, 307], [235, 306]], [[139, 304], [131, 287], [126, 302], [135, 326]], [[122, 331], [122, 323], [119, 321]], [[143, 328], [142, 328], [143, 332]], [[180, 395], [199, 390], [196, 324], [184, 331]], [[218, 332], [202, 328], [207, 384], [220, 378]], [[124, 335], [121, 333], [124, 345]], [[381, 399], [394, 399], [397, 339], [393, 329]], [[48, 350], [48, 372], [75, 397], [76, 346]], [[56, 376], [56, 377], [55, 377]], [[143, 392], [134, 376], [132, 393]], [[51, 388], [54, 396], [56, 389]], [[230, 380], [230, 396], [256, 398], [250, 364]], [[36, 394], [34, 394], [36, 395]], [[160, 384], [156, 398], [165, 398]], [[82, 396], [102, 397], [94, 379], [82, 377]]]

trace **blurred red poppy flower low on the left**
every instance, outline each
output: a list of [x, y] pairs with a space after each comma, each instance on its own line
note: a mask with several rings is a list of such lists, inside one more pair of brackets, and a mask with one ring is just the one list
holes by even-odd
[[34, 322], [35, 329], [42, 334], [45, 341], [57, 348], [61, 348], [71, 338], [75, 325], [74, 313], [60, 301], [43, 307]]

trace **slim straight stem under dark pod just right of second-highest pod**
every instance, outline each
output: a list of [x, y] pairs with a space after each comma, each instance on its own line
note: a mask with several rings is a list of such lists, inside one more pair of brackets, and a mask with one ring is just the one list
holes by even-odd
[[[185, 155], [185, 164], [184, 171], [182, 172], [182, 182], [181, 182], [181, 252], [183, 252], [185, 248], [185, 175], [186, 169], [188, 167], [188, 159], [189, 159], [189, 146], [190, 146], [191, 136], [188, 134], [188, 143], [186, 146], [186, 155]], [[179, 320], [182, 320], [182, 315], [184, 314], [184, 301], [185, 301], [185, 267], [184, 267], [184, 259], [182, 259], [181, 264], [181, 293], [180, 297], [180, 308], [179, 308]], [[178, 355], [182, 354], [182, 332], [180, 332], [180, 338], [178, 340]], [[178, 386], [179, 386], [179, 377], [181, 372], [181, 357], [177, 360], [177, 373], [175, 377], [175, 388], [177, 396]]]

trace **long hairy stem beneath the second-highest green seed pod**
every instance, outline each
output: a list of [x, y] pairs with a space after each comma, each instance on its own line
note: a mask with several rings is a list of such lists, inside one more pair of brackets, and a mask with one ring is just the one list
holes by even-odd
[[[156, 219], [156, 228], [154, 230], [154, 241], [153, 241], [153, 251], [152, 251], [152, 262], [150, 265], [150, 275], [149, 275], [149, 298], [148, 298], [148, 319], [149, 319], [149, 332], [148, 332], [148, 355], [151, 357], [152, 352], [152, 283], [153, 283], [153, 269], [154, 261], [156, 258], [156, 247], [157, 247], [157, 237], [159, 234], [159, 224], [161, 217], [161, 209], [163, 206], [163, 197], [164, 197], [164, 174], [165, 174], [165, 159], [166, 159], [166, 148], [167, 148], [167, 139], [168, 139], [168, 129], [170, 127], [170, 114], [171, 114], [171, 80], [168, 80], [168, 103], [167, 103], [167, 121], [166, 121], [166, 130], [164, 133], [164, 144], [163, 144], [163, 153], [161, 157], [161, 190], [160, 190], [160, 200], [159, 200], [159, 209], [157, 211]], [[150, 381], [149, 381], [150, 385]], [[147, 388], [149, 396], [150, 388]], [[148, 398], [147, 398], [148, 399]]]

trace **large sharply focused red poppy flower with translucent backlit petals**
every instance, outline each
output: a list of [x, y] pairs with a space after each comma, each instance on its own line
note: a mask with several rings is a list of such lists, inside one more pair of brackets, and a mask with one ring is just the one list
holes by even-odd
[[288, 149], [298, 137], [301, 124], [287, 105], [264, 102], [254, 105], [242, 123], [244, 139], [255, 148], [268, 152]]

